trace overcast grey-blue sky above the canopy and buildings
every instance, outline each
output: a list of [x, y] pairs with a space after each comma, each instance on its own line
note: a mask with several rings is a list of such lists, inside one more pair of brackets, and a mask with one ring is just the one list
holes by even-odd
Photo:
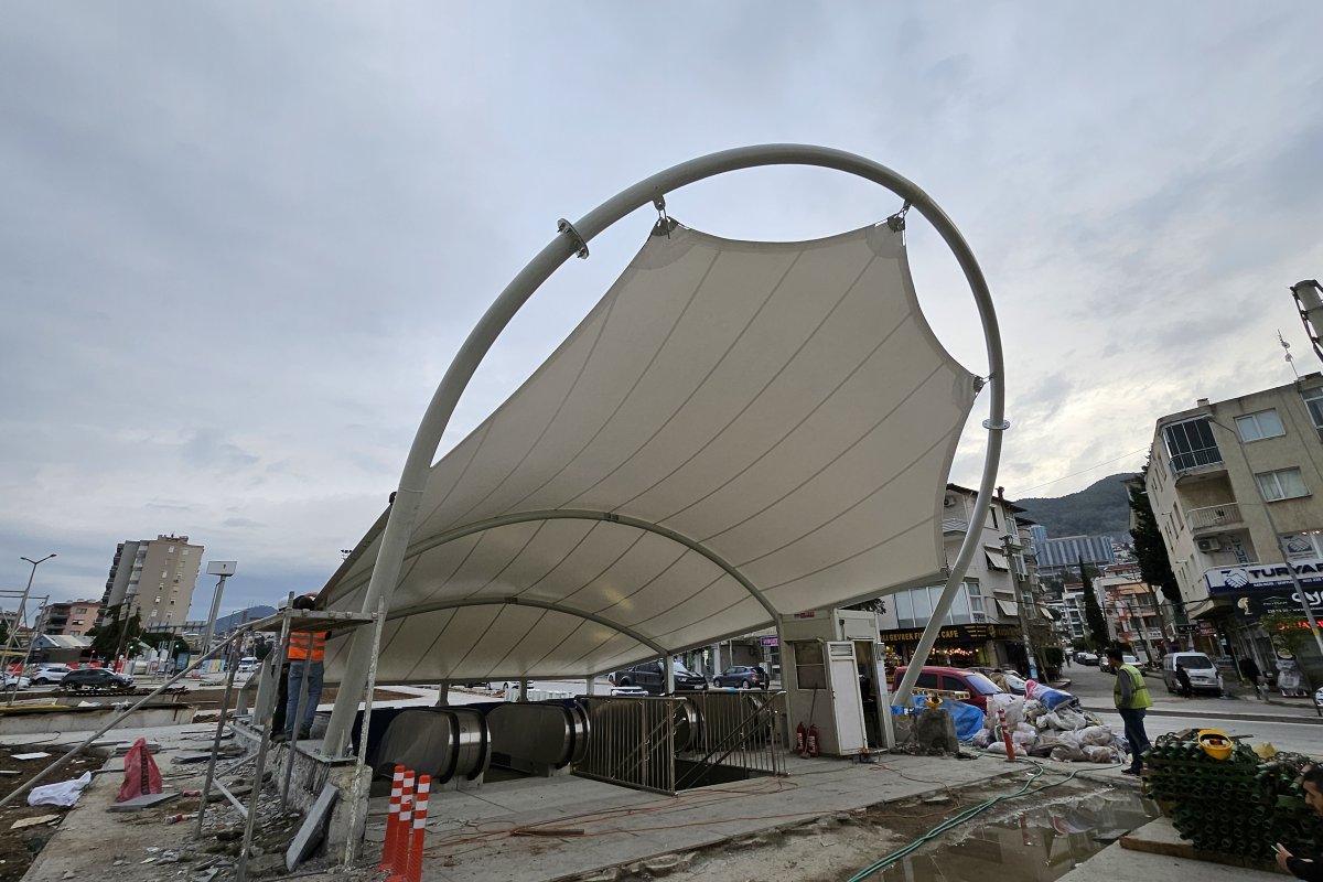
[[[159, 533], [238, 561], [226, 612], [319, 588], [557, 218], [766, 141], [890, 165], [963, 230], [1007, 348], [1008, 496], [1138, 468], [1156, 417], [1289, 382], [1278, 328], [1319, 368], [1287, 286], [1323, 275], [1323, 7], [1253, 5], [9, 5], [0, 588], [22, 587], [20, 555], [57, 551], [36, 592], [99, 598], [116, 542]], [[789, 169], [668, 202], [753, 239], [898, 208]], [[910, 217], [930, 320], [986, 373], [954, 261]], [[538, 292], [442, 452], [654, 220]], [[986, 406], [955, 481], [978, 480]]]

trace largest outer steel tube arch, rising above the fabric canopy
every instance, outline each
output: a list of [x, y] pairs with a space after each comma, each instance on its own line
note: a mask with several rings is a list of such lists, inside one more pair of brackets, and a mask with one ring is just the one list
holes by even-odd
[[[431, 402], [418, 424], [409, 456], [400, 476], [400, 487], [396, 491], [396, 501], [390, 506], [386, 518], [386, 529], [381, 536], [381, 546], [377, 550], [377, 561], [372, 570], [372, 579], [363, 599], [363, 611], [372, 612], [384, 599], [390, 606], [390, 598], [400, 581], [400, 569], [405, 554], [409, 550], [409, 536], [418, 518], [418, 506], [422, 500], [423, 488], [427, 480], [427, 471], [431, 460], [437, 455], [441, 438], [450, 424], [450, 418], [455, 411], [459, 397], [468, 386], [474, 372], [483, 357], [491, 349], [500, 332], [509, 324], [520, 307], [537, 291], [552, 272], [572, 257], [587, 257], [587, 242], [605, 229], [646, 205], [656, 204], [667, 193], [701, 181], [706, 177], [734, 172], [745, 168], [759, 168], [765, 165], [812, 165], [818, 168], [831, 168], [847, 172], [864, 180], [880, 184], [902, 197], [908, 206], [913, 206], [938, 231], [947, 247], [955, 255], [960, 270], [964, 272], [970, 290], [974, 294], [975, 304], [979, 309], [979, 320], [983, 324], [984, 345], [988, 354], [988, 419], [983, 426], [988, 430], [988, 446], [983, 458], [983, 477], [979, 481], [978, 496], [974, 500], [971, 522], [982, 524], [987, 518], [987, 512], [992, 505], [992, 484], [996, 480], [996, 465], [1002, 458], [1002, 434], [1008, 427], [1005, 422], [1005, 364], [1002, 352], [1002, 337], [998, 329], [996, 311], [992, 307], [992, 295], [988, 292], [987, 279], [979, 267], [964, 237], [955, 223], [946, 216], [933, 198], [917, 184], [896, 173], [888, 167], [869, 159], [832, 149], [830, 147], [815, 147], [810, 144], [761, 144], [755, 147], [738, 147], [700, 156], [699, 159], [672, 165], [671, 168], [647, 177], [634, 186], [622, 190], [595, 209], [585, 214], [577, 223], [561, 221], [556, 238], [553, 238], [537, 255], [520, 270], [505, 290], [500, 292], [483, 317], [470, 332], [468, 337], [455, 353], [454, 361], [442, 377], [441, 385], [433, 393]], [[950, 577], [942, 591], [942, 598], [933, 610], [933, 618], [925, 629], [922, 639], [914, 649], [914, 656], [926, 660], [942, 619], [950, 612], [951, 602], [955, 599], [957, 588], [968, 570], [974, 551], [978, 549], [982, 537], [970, 530], [964, 536], [960, 550], [951, 566]], [[339, 755], [348, 743], [349, 723], [359, 706], [360, 693], [368, 681], [368, 662], [370, 636], [359, 629], [353, 636], [353, 645], [349, 651], [348, 662], [340, 682], [340, 692], [336, 696], [335, 711], [327, 727], [323, 750], [328, 755]], [[894, 700], [898, 703], [908, 702], [909, 692], [918, 677], [919, 665], [910, 664], [905, 678], [896, 690]]]

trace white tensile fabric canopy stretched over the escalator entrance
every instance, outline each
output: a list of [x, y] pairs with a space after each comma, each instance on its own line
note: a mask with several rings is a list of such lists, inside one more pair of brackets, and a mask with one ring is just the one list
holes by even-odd
[[[583, 677], [942, 581], [976, 394], [902, 233], [655, 234], [433, 465], [377, 680]], [[359, 611], [382, 517], [321, 600]], [[337, 680], [349, 640], [332, 640]]]

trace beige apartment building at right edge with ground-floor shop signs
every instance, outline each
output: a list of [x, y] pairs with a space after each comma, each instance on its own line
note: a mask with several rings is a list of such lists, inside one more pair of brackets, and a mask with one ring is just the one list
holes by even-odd
[[1323, 374], [1159, 418], [1146, 487], [1196, 645], [1271, 670], [1257, 623], [1304, 625], [1293, 574], [1323, 611]]

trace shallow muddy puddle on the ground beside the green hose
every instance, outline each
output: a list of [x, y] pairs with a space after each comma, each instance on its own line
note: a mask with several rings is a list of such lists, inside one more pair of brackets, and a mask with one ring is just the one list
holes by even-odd
[[1158, 817], [1156, 805], [1135, 793], [1106, 792], [1036, 804], [1023, 812], [1007, 803], [934, 840], [876, 874], [886, 882], [950, 882], [999, 878], [1050, 882], [1136, 826]]

